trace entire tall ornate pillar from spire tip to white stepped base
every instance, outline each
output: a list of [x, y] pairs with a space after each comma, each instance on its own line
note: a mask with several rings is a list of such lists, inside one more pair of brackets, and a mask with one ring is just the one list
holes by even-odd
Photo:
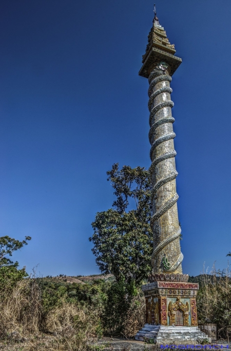
[[146, 53], [139, 75], [148, 78], [149, 141], [151, 144], [153, 252], [152, 274], [142, 286], [146, 299], [146, 324], [137, 340], [156, 339], [159, 343], [196, 343], [205, 338], [197, 326], [198, 284], [188, 283], [182, 273], [181, 228], [178, 219], [170, 88], [171, 76], [182, 60], [166, 36], [156, 16], [148, 35]]

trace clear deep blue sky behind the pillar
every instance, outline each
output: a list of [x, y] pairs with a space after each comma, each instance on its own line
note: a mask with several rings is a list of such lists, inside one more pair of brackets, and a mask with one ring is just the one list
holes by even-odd
[[[158, 0], [183, 63], [173, 76], [183, 270], [231, 251], [230, 0]], [[149, 167], [150, 0], [0, 3], [0, 236], [47, 275], [99, 272], [88, 238], [113, 191], [106, 171]]]

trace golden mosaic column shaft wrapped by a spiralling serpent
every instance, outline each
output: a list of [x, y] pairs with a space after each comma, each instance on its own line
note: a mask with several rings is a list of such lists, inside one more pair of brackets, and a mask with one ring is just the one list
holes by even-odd
[[150, 170], [152, 177], [153, 274], [182, 273], [183, 255], [180, 249], [180, 233], [176, 191], [176, 151], [171, 115], [174, 103], [170, 99], [170, 68], [165, 62], [152, 66], [149, 75], [149, 111], [151, 144]]

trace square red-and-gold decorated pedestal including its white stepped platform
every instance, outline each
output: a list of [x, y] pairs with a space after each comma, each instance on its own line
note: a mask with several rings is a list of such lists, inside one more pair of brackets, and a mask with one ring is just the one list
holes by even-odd
[[158, 281], [142, 286], [146, 300], [146, 324], [135, 339], [157, 343], [198, 343], [208, 337], [197, 323], [197, 283]]

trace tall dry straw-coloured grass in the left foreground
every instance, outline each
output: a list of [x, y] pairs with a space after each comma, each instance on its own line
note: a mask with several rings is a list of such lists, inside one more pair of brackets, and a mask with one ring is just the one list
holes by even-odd
[[88, 350], [98, 325], [99, 310], [87, 304], [64, 300], [45, 313], [36, 279], [24, 279], [1, 291], [0, 347], [3, 349]]

